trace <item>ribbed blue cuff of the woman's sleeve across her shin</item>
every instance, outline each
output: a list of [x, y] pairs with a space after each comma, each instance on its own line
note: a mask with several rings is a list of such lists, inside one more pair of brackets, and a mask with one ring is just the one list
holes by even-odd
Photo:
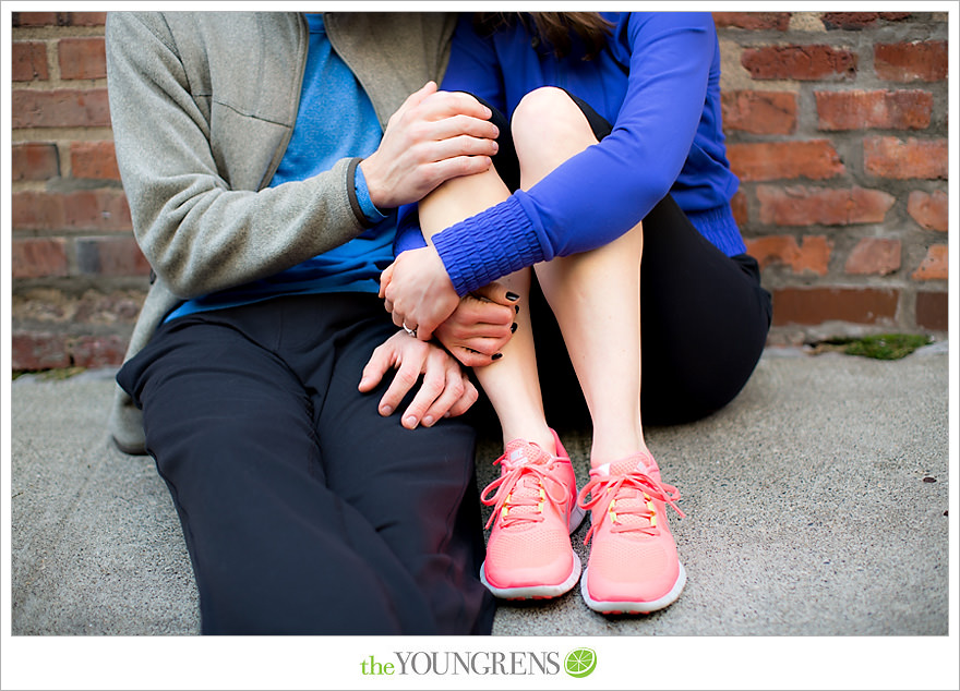
[[433, 237], [457, 294], [483, 288], [548, 258], [537, 230], [516, 196]]

